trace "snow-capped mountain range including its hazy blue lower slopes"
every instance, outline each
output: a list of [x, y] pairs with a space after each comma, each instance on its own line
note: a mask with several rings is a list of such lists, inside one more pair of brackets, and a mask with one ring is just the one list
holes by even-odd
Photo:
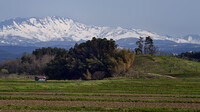
[[0, 22], [0, 46], [4, 46], [3, 48], [70, 48], [75, 43], [96, 37], [114, 39], [119, 47], [134, 49], [138, 38], [147, 36], [152, 37], [155, 46], [163, 52], [181, 53], [198, 51], [200, 48], [200, 35], [163, 36], [141, 29], [85, 25], [64, 17], [14, 18]]

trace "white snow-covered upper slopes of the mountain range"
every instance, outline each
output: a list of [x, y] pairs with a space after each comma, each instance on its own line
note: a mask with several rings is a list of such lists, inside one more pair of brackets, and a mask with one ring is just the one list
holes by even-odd
[[52, 41], [82, 41], [92, 37], [107, 39], [151, 36], [154, 40], [176, 43], [199, 43], [192, 38], [171, 38], [140, 29], [97, 27], [81, 24], [63, 17], [15, 18], [0, 23], [0, 44], [20, 45]]

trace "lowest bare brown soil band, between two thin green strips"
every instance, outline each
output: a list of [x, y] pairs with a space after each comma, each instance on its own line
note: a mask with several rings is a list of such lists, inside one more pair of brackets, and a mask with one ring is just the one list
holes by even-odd
[[148, 102], [100, 102], [100, 101], [41, 101], [41, 100], [1, 100], [0, 105], [27, 106], [88, 106], [88, 107], [168, 107], [200, 109], [198, 103], [148, 103]]

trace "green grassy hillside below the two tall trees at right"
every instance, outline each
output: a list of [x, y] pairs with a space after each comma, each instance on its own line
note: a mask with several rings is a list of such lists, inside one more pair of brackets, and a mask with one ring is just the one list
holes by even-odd
[[200, 63], [169, 56], [137, 55], [127, 74], [155, 73], [174, 77], [200, 77]]

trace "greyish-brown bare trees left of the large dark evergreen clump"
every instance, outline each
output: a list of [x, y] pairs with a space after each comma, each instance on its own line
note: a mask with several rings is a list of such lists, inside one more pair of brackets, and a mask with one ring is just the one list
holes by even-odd
[[[6, 69], [10, 74], [44, 74], [44, 68], [56, 54], [67, 52], [62, 48], [39, 48], [29, 53], [23, 53], [21, 58], [4, 61], [1, 69]], [[5, 71], [5, 70], [4, 70]]]

